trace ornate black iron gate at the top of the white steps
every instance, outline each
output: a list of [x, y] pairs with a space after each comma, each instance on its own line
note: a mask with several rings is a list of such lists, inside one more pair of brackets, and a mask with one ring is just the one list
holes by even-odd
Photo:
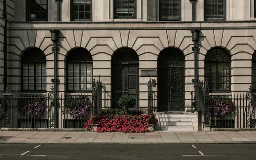
[[184, 63], [158, 62], [158, 110], [185, 110]]

